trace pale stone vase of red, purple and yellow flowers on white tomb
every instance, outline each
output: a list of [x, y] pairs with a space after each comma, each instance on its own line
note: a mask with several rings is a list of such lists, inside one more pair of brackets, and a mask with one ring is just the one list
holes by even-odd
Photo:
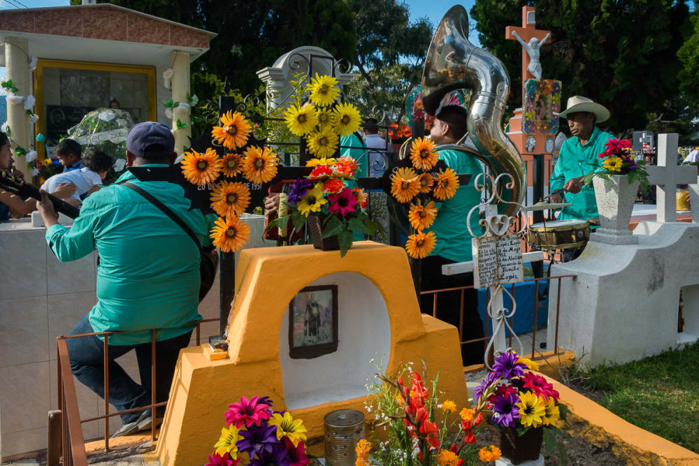
[[595, 189], [600, 233], [628, 235], [638, 186], [643, 191], [648, 187], [645, 162], [635, 160], [628, 139], [610, 139], [605, 147], [605, 152], [599, 154], [600, 168], [585, 175], [584, 182], [592, 182]]

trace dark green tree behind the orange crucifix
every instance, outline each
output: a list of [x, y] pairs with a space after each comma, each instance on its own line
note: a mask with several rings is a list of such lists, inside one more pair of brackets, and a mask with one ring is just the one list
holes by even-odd
[[538, 27], [552, 31], [543, 77], [563, 82], [563, 103], [574, 95], [603, 103], [612, 112], [604, 126], [620, 133], [644, 129], [647, 114], [662, 115], [676, 98], [689, 20], [682, 1], [476, 0], [480, 42], [511, 71], [510, 108], [521, 106], [521, 46], [505, 39], [505, 26], [519, 26], [521, 7], [534, 4]]

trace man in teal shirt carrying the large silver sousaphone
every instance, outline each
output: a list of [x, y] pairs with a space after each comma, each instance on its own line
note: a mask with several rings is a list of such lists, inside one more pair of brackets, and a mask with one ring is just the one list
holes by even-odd
[[[454, 144], [466, 134], [468, 113], [459, 105], [445, 105], [436, 117], [430, 130], [430, 138], [436, 144]], [[473, 156], [458, 150], [440, 150], [439, 159], [456, 173], [471, 173], [473, 177], [468, 184], [462, 184], [456, 190], [454, 197], [438, 203], [437, 218], [425, 233], [433, 231], [437, 237], [435, 248], [424, 259], [421, 259], [421, 290], [456, 288], [473, 284], [473, 274], [442, 275], [442, 265], [455, 262], [465, 262], [472, 259], [471, 238], [468, 231], [468, 212], [480, 204], [480, 193], [476, 191], [473, 180], [482, 173], [480, 162]], [[478, 210], [470, 218], [471, 231], [476, 235], [481, 233], [478, 226], [480, 219]], [[433, 295], [422, 295], [420, 309], [425, 314], [432, 314]], [[451, 323], [459, 328], [461, 321], [461, 291], [445, 291], [437, 297], [438, 319]], [[478, 314], [478, 295], [475, 289], [463, 290], [463, 333], [461, 340], [475, 340], [483, 336], [483, 323]], [[482, 342], [462, 344], [461, 360], [463, 365], [483, 362]]]

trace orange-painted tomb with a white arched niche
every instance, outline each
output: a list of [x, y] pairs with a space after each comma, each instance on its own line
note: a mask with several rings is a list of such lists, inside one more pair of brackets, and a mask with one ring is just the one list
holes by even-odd
[[[336, 286], [337, 346], [298, 358], [296, 335], [305, 330], [305, 317], [299, 321], [294, 312], [290, 332], [289, 312], [298, 309], [291, 301], [303, 300], [309, 286]], [[206, 461], [228, 405], [255, 395], [270, 396], [275, 409], [303, 419], [310, 453], [323, 456], [325, 414], [347, 408], [368, 414], [365, 384], [377, 372], [372, 359], [388, 372], [422, 359], [429, 378], [440, 373], [440, 390], [457, 405], [468, 405], [458, 331], [420, 313], [400, 247], [355, 242], [344, 258], [311, 245], [245, 249], [235, 296], [229, 357], [210, 361], [203, 347], [180, 353], [157, 444], [163, 465]]]

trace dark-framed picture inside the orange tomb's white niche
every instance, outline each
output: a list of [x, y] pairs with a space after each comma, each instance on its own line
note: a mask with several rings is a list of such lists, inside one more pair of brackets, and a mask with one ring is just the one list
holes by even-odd
[[289, 303], [289, 357], [312, 359], [338, 350], [338, 286], [306, 286]]

